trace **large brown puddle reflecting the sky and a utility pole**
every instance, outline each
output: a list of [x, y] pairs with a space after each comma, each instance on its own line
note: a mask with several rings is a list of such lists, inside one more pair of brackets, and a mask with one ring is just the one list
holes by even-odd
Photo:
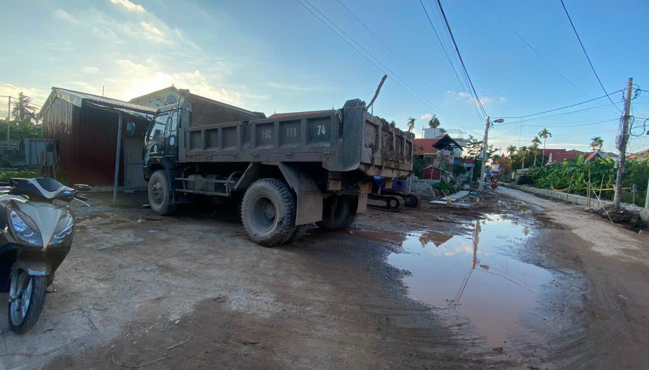
[[471, 319], [487, 343], [502, 345], [520, 330], [520, 316], [537, 306], [552, 273], [500, 253], [532, 237], [532, 229], [499, 214], [471, 226], [471, 234], [411, 233], [403, 252], [388, 261], [411, 272], [404, 278], [413, 299], [448, 307]]

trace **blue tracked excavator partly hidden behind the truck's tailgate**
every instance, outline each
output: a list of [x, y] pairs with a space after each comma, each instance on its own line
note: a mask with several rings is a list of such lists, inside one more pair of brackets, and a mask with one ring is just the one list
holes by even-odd
[[406, 194], [407, 179], [389, 179], [374, 176], [371, 194], [367, 196], [367, 205], [382, 211], [397, 212], [404, 207], [418, 207], [421, 203], [419, 196]]

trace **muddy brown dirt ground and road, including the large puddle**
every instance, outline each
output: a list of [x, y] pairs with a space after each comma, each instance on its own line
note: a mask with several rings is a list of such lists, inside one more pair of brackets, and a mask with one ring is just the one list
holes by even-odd
[[[647, 234], [569, 205], [501, 187], [476, 207], [370, 210], [350, 230], [313, 227], [292, 244], [262, 248], [217, 207], [160, 217], [140, 207], [142, 195], [125, 194], [130, 206], [112, 207], [108, 194], [92, 194], [92, 207], [75, 206], [73, 251], [40, 321], [21, 336], [0, 321], [0, 370], [649, 363]], [[435, 255], [430, 267], [428, 260], [410, 269], [392, 263], [419, 258], [408, 247], [413, 240], [422, 258]], [[441, 273], [424, 281], [431, 287], [454, 276], [443, 271], [454, 242], [461, 253], [452, 258], [476, 274], [459, 291], [464, 306], [461, 294], [417, 299], [426, 269]], [[496, 266], [484, 261], [496, 257], [525, 268], [495, 276]], [[505, 279], [511, 284], [499, 283]], [[495, 283], [481, 285], [488, 281]], [[6, 310], [6, 294], [0, 302]]]

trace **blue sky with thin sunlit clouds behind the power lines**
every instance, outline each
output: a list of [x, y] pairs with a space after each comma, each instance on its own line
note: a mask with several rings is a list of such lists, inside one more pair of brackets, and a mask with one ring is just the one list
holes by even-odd
[[[419, 0], [341, 0], [399, 58], [337, 0], [309, 1], [392, 71], [382, 67], [389, 78], [375, 114], [403, 129], [408, 117], [415, 117], [416, 133], [433, 113], [444, 128], [461, 128], [465, 136], [484, 130], [484, 117], [465, 97]], [[463, 60], [491, 117], [527, 115], [603, 95], [558, 0], [487, 1], [583, 91], [528, 49], [484, 0], [445, 0]], [[444, 32], [436, 8], [430, 0], [423, 3], [438, 32]], [[649, 90], [643, 26], [649, 3], [568, 0], [566, 6], [607, 91], [622, 89], [631, 76]], [[105, 86], [106, 96], [129, 99], [173, 83], [272, 114], [338, 108], [349, 98], [369, 102], [383, 75], [297, 0], [98, 0], [84, 6], [43, 1], [10, 2], [4, 8], [10, 17], [0, 26], [5, 51], [0, 95], [25, 91], [36, 103], [51, 86], [97, 94]], [[456, 63], [445, 33], [441, 36]], [[406, 92], [398, 78], [423, 97]], [[622, 107], [620, 93], [611, 98]], [[599, 135], [605, 150], [615, 150], [618, 122], [612, 120], [620, 113], [598, 102], [610, 104], [600, 99], [566, 112], [596, 109], [527, 121], [516, 130], [517, 120], [508, 119], [493, 129], [492, 142], [518, 146], [520, 135], [520, 144], [527, 145], [546, 126], [554, 134], [548, 147], [584, 150], [589, 138]], [[633, 114], [649, 117], [649, 93], [633, 100]], [[606, 120], [611, 121], [592, 124]], [[634, 139], [631, 150], [648, 145]]]

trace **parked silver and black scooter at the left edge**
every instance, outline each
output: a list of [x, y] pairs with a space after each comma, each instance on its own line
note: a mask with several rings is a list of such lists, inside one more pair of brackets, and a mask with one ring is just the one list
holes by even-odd
[[[0, 292], [9, 292], [9, 329], [31, 329], [43, 310], [47, 286], [66, 258], [75, 234], [67, 204], [88, 200], [51, 178], [0, 183]], [[86, 203], [87, 205], [87, 203]]]

